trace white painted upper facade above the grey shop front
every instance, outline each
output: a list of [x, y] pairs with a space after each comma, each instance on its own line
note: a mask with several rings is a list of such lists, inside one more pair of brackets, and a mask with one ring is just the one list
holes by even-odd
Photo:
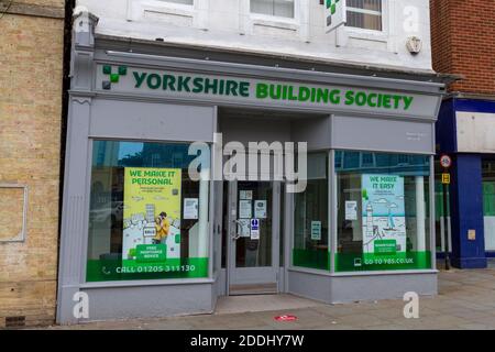
[[[172, 1], [172, 0], [169, 0]], [[240, 52], [431, 72], [428, 0], [382, 0], [382, 31], [326, 33], [320, 0], [295, 0], [294, 19], [251, 13], [250, 0], [78, 0], [99, 18], [97, 34]], [[407, 40], [422, 48], [413, 55]]]

